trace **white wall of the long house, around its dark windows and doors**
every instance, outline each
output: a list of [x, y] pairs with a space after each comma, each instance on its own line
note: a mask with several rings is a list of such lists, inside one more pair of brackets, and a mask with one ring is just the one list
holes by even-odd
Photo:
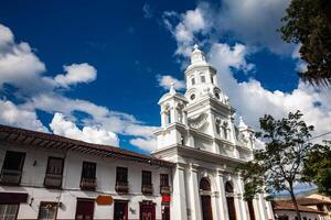
[[[115, 158], [103, 158], [77, 152], [45, 151], [36, 147], [20, 147], [8, 143], [0, 143], [0, 166], [2, 168], [6, 151], [25, 152], [25, 162], [22, 170], [21, 185], [18, 187], [0, 185], [0, 193], [26, 193], [28, 204], [21, 204], [18, 219], [36, 219], [41, 201], [61, 201], [64, 206], [57, 212], [58, 219], [74, 219], [77, 198], [93, 198], [99, 195], [110, 195], [114, 199], [129, 200], [129, 219], [139, 219], [139, 202], [152, 200], [156, 202], [157, 219], [161, 219], [160, 174], [171, 170], [149, 164], [129, 162]], [[65, 157], [63, 172], [63, 190], [43, 188], [49, 156]], [[96, 163], [96, 191], [79, 189], [83, 161]], [[35, 163], [36, 162], [36, 163]], [[35, 164], [35, 165], [34, 165]], [[120, 196], [115, 191], [116, 166], [128, 167], [129, 194]], [[141, 170], [152, 172], [153, 195], [141, 194]], [[113, 219], [114, 205], [99, 206], [95, 204], [95, 219]], [[132, 210], [132, 211], [130, 211]]]

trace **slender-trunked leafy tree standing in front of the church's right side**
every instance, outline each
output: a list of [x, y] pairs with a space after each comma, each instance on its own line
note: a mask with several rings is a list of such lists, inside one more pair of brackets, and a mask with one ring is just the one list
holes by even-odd
[[269, 114], [260, 118], [261, 132], [257, 136], [264, 139], [265, 148], [254, 151], [254, 160], [238, 167], [245, 182], [246, 200], [258, 193], [286, 190], [291, 196], [299, 219], [293, 185], [302, 180], [303, 162], [317, 147], [309, 142], [313, 127], [307, 125], [301, 117], [297, 111], [280, 120]]

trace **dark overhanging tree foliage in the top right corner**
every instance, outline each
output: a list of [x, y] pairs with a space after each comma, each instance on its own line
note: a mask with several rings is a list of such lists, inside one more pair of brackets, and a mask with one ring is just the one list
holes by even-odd
[[331, 1], [292, 0], [281, 21], [281, 37], [301, 44], [307, 70], [299, 76], [316, 86], [331, 86]]

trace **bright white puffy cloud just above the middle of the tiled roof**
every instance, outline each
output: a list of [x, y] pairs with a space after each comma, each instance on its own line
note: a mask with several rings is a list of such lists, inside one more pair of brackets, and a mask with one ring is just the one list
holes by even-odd
[[83, 127], [81, 130], [75, 123], [66, 120], [62, 113], [55, 113], [50, 127], [54, 134], [82, 140], [95, 144], [118, 146], [118, 136], [109, 131], [96, 127]]

